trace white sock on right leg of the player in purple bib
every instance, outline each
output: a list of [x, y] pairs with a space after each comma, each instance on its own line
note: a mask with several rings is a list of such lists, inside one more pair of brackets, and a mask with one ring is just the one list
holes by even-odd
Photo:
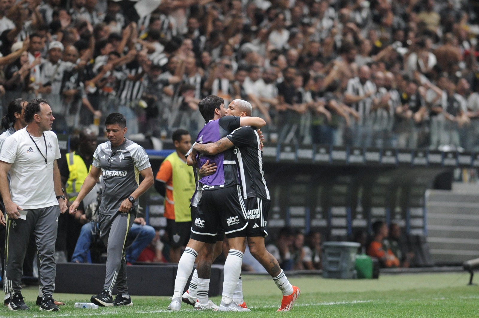
[[221, 302], [227, 305], [233, 301], [233, 293], [241, 274], [241, 263], [243, 252], [240, 250], [229, 250], [224, 267], [223, 294]]

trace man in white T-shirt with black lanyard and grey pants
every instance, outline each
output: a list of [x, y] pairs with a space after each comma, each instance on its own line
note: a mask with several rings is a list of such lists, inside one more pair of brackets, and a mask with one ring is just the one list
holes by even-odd
[[[11, 310], [27, 310], [20, 282], [30, 234], [40, 257], [43, 298], [40, 310], [59, 311], [52, 298], [55, 289], [55, 241], [58, 216], [67, 210], [57, 159], [57, 135], [48, 102], [35, 99], [24, 110], [27, 126], [9, 136], [0, 154], [0, 193], [7, 213], [4, 291]], [[10, 191], [7, 174], [10, 172]]]

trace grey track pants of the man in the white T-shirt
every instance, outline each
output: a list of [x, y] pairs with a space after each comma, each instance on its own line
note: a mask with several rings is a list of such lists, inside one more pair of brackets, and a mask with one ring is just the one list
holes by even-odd
[[7, 218], [5, 240], [5, 272], [3, 291], [14, 295], [22, 290], [23, 260], [33, 232], [40, 258], [40, 283], [43, 295], [53, 295], [55, 290], [55, 241], [57, 240], [60, 209], [53, 205], [27, 211], [26, 219]]

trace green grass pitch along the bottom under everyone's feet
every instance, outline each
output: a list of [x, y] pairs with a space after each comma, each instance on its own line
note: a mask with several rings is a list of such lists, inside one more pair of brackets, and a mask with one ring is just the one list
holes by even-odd
[[[55, 294], [67, 303], [57, 313], [42, 312], [35, 306], [38, 288], [23, 289], [29, 311], [0, 308], [0, 317], [478, 317], [479, 286], [467, 286], [467, 273], [382, 275], [378, 280], [336, 280], [317, 276], [290, 277], [301, 289], [295, 307], [277, 313], [281, 293], [265, 276], [243, 276], [245, 301], [251, 313], [198, 312], [183, 304], [182, 311], [168, 312], [168, 297], [133, 296], [132, 307], [75, 309], [76, 301], [91, 295]], [[220, 297], [212, 298], [217, 304]]]

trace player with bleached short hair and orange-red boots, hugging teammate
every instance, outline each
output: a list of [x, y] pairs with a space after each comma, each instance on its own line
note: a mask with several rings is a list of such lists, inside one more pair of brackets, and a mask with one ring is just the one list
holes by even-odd
[[[229, 104], [226, 115], [243, 117], [251, 116], [251, 113], [252, 107], [249, 102], [234, 100]], [[195, 144], [194, 149], [203, 154], [216, 155], [232, 147], [235, 147], [241, 189], [249, 220], [248, 246], [254, 258], [263, 265], [273, 277], [276, 286], [283, 292], [283, 300], [278, 311], [289, 311], [300, 295], [300, 290], [289, 283], [278, 261], [264, 246], [264, 238], [267, 236], [266, 220], [271, 201], [264, 180], [262, 147], [258, 132], [251, 126], [242, 126], [215, 143]]]

